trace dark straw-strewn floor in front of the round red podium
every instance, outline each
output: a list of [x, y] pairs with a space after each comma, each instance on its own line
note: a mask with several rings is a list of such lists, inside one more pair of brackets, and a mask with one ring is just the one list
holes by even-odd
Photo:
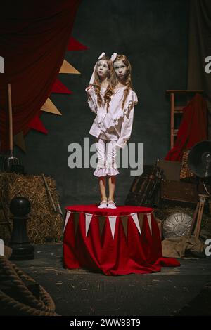
[[158, 273], [111, 277], [64, 269], [62, 244], [34, 249], [34, 260], [14, 263], [50, 293], [60, 315], [211, 315], [210, 257], [179, 260], [179, 268]]

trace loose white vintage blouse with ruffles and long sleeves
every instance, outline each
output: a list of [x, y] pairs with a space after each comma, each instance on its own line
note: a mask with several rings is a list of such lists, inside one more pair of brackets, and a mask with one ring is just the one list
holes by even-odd
[[[122, 109], [125, 87], [120, 87], [114, 91], [108, 112], [106, 106], [100, 107], [97, 103], [97, 96], [94, 87], [85, 90], [88, 96], [88, 104], [92, 112], [96, 114], [89, 134], [96, 138], [106, 140], [117, 140], [117, 147], [123, 148], [131, 136], [134, 119], [134, 105], [138, 103], [136, 93], [130, 89], [127, 99]], [[106, 88], [101, 88], [101, 94], [105, 93]]]

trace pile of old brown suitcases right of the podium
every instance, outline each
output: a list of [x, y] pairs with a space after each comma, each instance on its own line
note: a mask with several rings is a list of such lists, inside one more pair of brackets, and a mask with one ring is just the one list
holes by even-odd
[[158, 160], [155, 166], [145, 165], [143, 174], [134, 178], [124, 204], [195, 207], [198, 194], [204, 193], [203, 184], [193, 176], [191, 182], [181, 180], [181, 169], [179, 161]]

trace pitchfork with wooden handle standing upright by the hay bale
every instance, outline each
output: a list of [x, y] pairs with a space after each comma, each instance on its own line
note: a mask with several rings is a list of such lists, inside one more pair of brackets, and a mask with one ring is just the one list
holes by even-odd
[[13, 112], [11, 98], [11, 84], [8, 84], [8, 110], [9, 110], [9, 144], [10, 150], [8, 156], [4, 157], [3, 170], [9, 170], [13, 165], [19, 165], [18, 158], [13, 157]]

